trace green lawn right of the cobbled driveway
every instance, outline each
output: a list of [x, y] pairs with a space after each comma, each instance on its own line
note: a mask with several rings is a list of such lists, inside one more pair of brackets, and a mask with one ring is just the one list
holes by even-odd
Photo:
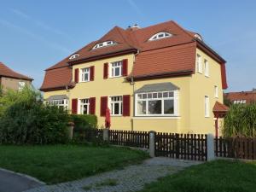
[[143, 192], [255, 192], [256, 163], [216, 160], [148, 184]]

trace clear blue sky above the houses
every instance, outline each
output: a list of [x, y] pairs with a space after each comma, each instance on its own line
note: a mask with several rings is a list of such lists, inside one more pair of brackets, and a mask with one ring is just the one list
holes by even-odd
[[256, 87], [255, 1], [1, 0], [0, 61], [31, 76], [61, 61], [113, 26], [175, 20], [201, 33], [227, 61], [230, 91]]

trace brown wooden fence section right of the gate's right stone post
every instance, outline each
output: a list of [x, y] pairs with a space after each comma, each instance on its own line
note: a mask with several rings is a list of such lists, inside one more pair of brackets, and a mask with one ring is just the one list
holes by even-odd
[[214, 151], [217, 157], [256, 160], [256, 137], [217, 137]]

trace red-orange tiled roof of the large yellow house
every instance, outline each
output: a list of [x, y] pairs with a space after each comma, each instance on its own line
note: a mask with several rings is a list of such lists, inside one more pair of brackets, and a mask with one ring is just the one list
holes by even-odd
[[[172, 34], [172, 37], [148, 41], [149, 38], [158, 32], [169, 32]], [[207, 53], [211, 54], [213, 59], [224, 66], [224, 59], [201, 42], [201, 40], [195, 38], [195, 34], [199, 35], [198, 33], [184, 30], [174, 21], [167, 21], [144, 28], [127, 28], [126, 30], [115, 26], [102, 38], [76, 51], [74, 54], [79, 54], [79, 57], [70, 60], [70, 56], [68, 56], [53, 67], [46, 69], [41, 90], [61, 87], [63, 84], [70, 84], [72, 70], [69, 70], [68, 66], [128, 53], [138, 53], [135, 65], [128, 79], [131, 78], [131, 76], [134, 79], [140, 79], [146, 77], [156, 78], [157, 76], [163, 75], [171, 76], [174, 74], [184, 75], [194, 73], [196, 47], [206, 50]], [[96, 44], [106, 41], [113, 41], [116, 44], [99, 49], [92, 49]], [[61, 67], [63, 67], [61, 70], [58, 69]], [[58, 81], [55, 81], [55, 83], [51, 83], [49, 79], [55, 78], [53, 75], [50, 75], [50, 73], [54, 73], [52, 72], [53, 70], [56, 71], [55, 73], [58, 73]], [[67, 73], [70, 73], [68, 75], [69, 79], [67, 79]], [[222, 76], [223, 87], [225, 89], [225, 73], [223, 73]]]

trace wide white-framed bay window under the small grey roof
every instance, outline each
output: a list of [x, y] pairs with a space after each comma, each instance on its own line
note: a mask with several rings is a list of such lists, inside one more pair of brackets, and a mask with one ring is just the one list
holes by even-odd
[[177, 90], [136, 94], [136, 116], [177, 116]]

